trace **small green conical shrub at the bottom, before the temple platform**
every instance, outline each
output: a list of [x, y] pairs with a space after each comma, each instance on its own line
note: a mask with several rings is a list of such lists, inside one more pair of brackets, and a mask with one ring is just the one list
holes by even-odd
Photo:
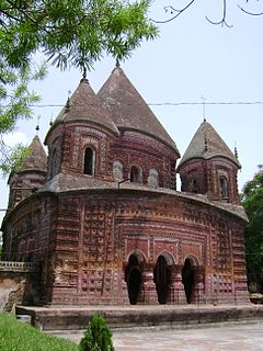
[[114, 351], [112, 333], [101, 315], [91, 318], [79, 347], [81, 351]]

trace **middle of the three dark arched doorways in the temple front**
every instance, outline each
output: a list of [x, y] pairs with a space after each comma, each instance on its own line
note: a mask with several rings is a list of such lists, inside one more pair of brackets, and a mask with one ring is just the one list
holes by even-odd
[[171, 271], [164, 256], [159, 256], [153, 271], [153, 280], [159, 304], [165, 304], [171, 283]]

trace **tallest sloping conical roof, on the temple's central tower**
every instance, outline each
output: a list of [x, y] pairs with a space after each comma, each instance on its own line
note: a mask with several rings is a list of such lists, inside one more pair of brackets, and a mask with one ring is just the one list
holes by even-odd
[[179, 154], [174, 140], [163, 128], [142, 97], [121, 67], [115, 67], [98, 92], [104, 106], [111, 112], [116, 126], [122, 129], [145, 132], [158, 137]]

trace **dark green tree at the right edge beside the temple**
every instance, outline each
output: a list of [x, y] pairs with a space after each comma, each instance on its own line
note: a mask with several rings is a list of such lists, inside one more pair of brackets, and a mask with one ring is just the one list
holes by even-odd
[[249, 281], [263, 291], [263, 166], [242, 193], [249, 223], [245, 227], [245, 253]]

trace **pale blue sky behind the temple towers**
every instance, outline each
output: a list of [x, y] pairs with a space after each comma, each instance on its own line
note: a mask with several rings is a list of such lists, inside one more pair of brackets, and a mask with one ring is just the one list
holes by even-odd
[[[152, 3], [150, 16], [165, 19], [163, 5], [182, 8], [187, 1]], [[239, 188], [253, 178], [258, 165], [263, 163], [263, 104], [214, 104], [210, 102], [263, 102], [263, 16], [250, 16], [240, 11], [245, 0], [229, 0], [227, 21], [232, 27], [210, 24], [220, 20], [221, 0], [199, 0], [176, 20], [160, 24], [160, 36], [144, 43], [133, 57], [122, 63], [127, 77], [150, 105], [184, 154], [194, 133], [203, 122], [202, 97], [205, 98], [205, 116], [227, 145], [238, 147], [242, 170]], [[249, 11], [263, 12], [262, 1], [250, 0]], [[98, 91], [114, 68], [114, 60], [104, 58], [88, 75]], [[34, 84], [44, 105], [61, 105], [68, 91], [75, 91], [81, 75], [70, 69], [60, 72], [52, 67], [47, 78]], [[165, 103], [190, 103], [167, 105]], [[9, 141], [31, 143], [35, 135], [37, 116], [41, 116], [39, 137], [44, 139], [50, 117], [59, 106], [34, 107], [35, 118], [19, 124]], [[1, 180], [0, 208], [7, 207], [7, 180]], [[3, 212], [0, 212], [0, 222]]]

